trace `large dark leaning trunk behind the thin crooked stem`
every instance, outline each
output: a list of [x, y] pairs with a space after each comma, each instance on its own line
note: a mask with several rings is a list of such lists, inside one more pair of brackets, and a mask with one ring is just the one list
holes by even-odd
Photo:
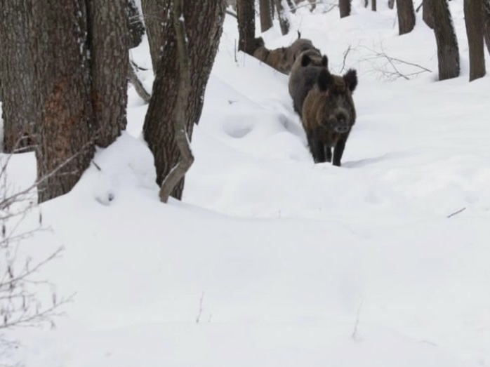
[[[171, 0], [163, 1], [164, 18], [171, 19]], [[192, 138], [194, 123], [199, 121], [204, 92], [214, 58], [218, 51], [225, 19], [225, 0], [199, 1], [184, 8], [189, 45], [191, 88], [187, 96], [187, 134]], [[179, 83], [176, 33], [172, 22], [163, 27], [163, 54], [153, 84], [153, 93], [145, 116], [143, 134], [152, 151], [157, 171], [157, 183], [176, 166], [180, 152], [175, 142], [174, 108]], [[172, 196], [182, 198], [184, 180], [173, 189]]]

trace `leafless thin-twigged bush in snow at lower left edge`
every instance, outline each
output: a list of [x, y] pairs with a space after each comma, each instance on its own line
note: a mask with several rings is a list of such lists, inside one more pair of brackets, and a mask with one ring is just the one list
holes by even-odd
[[22, 246], [27, 239], [46, 231], [37, 206], [37, 182], [25, 189], [7, 180], [12, 154], [0, 155], [0, 352], [15, 346], [6, 338], [13, 328], [54, 326], [53, 316], [69, 298], [58, 298], [52, 283], [39, 271], [57, 258], [62, 248], [37, 258]]

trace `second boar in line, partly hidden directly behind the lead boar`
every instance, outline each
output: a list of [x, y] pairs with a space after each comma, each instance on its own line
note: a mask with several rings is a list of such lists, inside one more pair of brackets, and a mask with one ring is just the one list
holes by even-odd
[[289, 74], [289, 94], [293, 98], [293, 107], [297, 114], [303, 114], [303, 102], [306, 95], [317, 83], [318, 74], [326, 69], [329, 59], [315, 50], [303, 51], [294, 62]]

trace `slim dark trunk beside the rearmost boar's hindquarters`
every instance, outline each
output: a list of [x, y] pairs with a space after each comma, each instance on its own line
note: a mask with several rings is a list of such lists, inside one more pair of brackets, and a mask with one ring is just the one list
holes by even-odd
[[256, 51], [256, 11], [254, 0], [237, 0], [238, 51]]

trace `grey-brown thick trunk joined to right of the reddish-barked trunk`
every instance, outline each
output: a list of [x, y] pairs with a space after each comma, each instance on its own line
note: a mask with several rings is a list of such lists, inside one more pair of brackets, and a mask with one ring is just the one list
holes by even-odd
[[86, 0], [91, 53], [92, 103], [96, 140], [109, 146], [126, 128], [128, 37], [127, 8], [120, 0]]

